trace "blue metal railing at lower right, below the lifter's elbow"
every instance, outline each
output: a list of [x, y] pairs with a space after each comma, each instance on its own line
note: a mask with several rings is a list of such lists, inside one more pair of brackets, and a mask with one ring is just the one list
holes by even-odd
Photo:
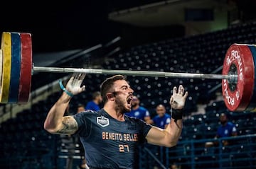
[[146, 145], [140, 152], [140, 168], [170, 168], [173, 164], [180, 169], [256, 168], [256, 134], [191, 139], [172, 148]]

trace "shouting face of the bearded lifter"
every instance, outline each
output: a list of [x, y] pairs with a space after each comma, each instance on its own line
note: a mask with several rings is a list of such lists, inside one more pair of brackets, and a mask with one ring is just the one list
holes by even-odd
[[131, 111], [132, 105], [132, 93], [134, 91], [129, 86], [127, 81], [119, 80], [114, 82], [114, 93], [115, 93], [115, 103], [117, 109], [124, 113]]

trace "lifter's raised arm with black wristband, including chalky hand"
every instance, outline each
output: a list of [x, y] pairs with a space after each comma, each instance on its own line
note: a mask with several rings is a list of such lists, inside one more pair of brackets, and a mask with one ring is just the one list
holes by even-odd
[[185, 105], [188, 92], [184, 91], [183, 86], [174, 87], [173, 95], [171, 95], [170, 104], [172, 109], [171, 122], [166, 129], [151, 127], [146, 135], [149, 144], [159, 146], [175, 146], [182, 131], [182, 109]]

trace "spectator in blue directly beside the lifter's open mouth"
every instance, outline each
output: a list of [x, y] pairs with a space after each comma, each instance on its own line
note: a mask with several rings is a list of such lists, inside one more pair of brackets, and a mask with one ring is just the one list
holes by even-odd
[[151, 121], [149, 110], [139, 105], [139, 103], [139, 98], [137, 98], [137, 96], [134, 95], [131, 102], [132, 110], [130, 112], [126, 112], [125, 115], [129, 117], [137, 117], [138, 119], [144, 120], [144, 122], [149, 123]]

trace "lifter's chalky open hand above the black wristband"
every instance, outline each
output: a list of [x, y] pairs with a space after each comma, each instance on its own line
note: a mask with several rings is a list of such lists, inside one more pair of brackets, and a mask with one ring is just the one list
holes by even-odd
[[171, 95], [171, 99], [170, 99], [171, 108], [176, 110], [183, 109], [186, 103], [187, 97], [188, 97], [188, 92], [187, 91], [185, 92], [182, 85], [178, 86], [178, 91], [177, 91], [177, 87], [174, 86], [173, 95]]

